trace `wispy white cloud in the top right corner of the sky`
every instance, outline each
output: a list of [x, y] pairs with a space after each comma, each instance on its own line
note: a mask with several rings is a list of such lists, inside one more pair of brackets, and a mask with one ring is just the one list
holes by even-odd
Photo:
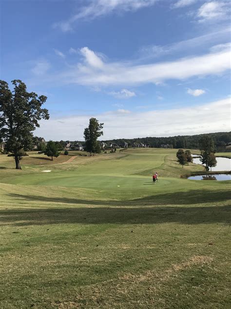
[[230, 18], [230, 1], [210, 1], [204, 3], [197, 12], [201, 22]]

